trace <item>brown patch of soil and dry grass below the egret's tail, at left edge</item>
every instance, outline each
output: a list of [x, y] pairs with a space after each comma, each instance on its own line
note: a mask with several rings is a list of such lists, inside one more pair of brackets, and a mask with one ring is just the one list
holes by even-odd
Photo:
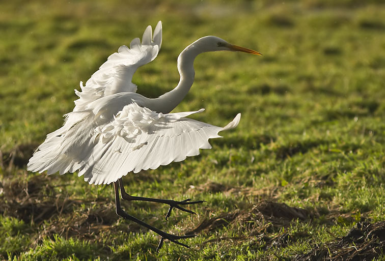
[[[111, 198], [73, 199], [50, 185], [50, 176], [29, 176], [26, 171], [18, 172], [19, 179], [4, 179], [0, 183], [0, 215], [15, 217], [38, 229], [35, 245], [44, 237], [53, 238], [56, 234], [65, 238], [99, 240], [99, 233], [117, 229], [113, 225], [119, 217]], [[100, 207], [82, 209], [82, 204]]]

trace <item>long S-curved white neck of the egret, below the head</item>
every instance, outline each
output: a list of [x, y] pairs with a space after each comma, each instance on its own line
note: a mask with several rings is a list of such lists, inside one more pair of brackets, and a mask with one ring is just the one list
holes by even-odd
[[162, 113], [172, 111], [186, 96], [194, 82], [194, 60], [199, 51], [193, 44], [187, 46], [178, 56], [178, 71], [180, 80], [178, 85], [170, 92], [153, 100], [153, 110]]

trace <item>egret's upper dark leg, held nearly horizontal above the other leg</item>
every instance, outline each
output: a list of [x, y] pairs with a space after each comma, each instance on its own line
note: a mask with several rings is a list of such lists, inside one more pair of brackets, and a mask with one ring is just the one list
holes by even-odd
[[170, 217], [171, 211], [173, 210], [173, 208], [180, 209], [180, 210], [187, 212], [187, 213], [190, 213], [190, 214], [196, 214], [194, 211], [182, 208], [179, 205], [193, 205], [193, 204], [205, 202], [204, 200], [191, 201], [191, 199], [189, 199], [189, 198], [187, 198], [183, 201], [175, 201], [175, 200], [171, 200], [171, 199], [159, 199], [159, 198], [150, 198], [150, 197], [131, 196], [131, 195], [127, 194], [126, 191], [124, 190], [124, 185], [123, 185], [122, 179], [119, 179], [119, 186], [120, 186], [120, 192], [122, 194], [122, 199], [129, 200], [129, 201], [138, 200], [138, 201], [158, 202], [158, 203], [169, 205], [170, 208], [166, 214], [166, 220]]

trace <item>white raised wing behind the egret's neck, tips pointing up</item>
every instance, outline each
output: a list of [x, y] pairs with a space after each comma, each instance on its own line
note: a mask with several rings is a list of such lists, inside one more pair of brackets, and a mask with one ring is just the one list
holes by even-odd
[[79, 99], [75, 101], [74, 111], [85, 110], [88, 103], [107, 95], [136, 92], [136, 85], [131, 82], [132, 75], [137, 68], [155, 59], [161, 43], [162, 23], [159, 21], [154, 36], [149, 25], [143, 33], [142, 43], [139, 38], [135, 38], [131, 41], [130, 48], [120, 46], [118, 52], [109, 55], [107, 61], [91, 76], [86, 85], [80, 81], [81, 92], [75, 90]]

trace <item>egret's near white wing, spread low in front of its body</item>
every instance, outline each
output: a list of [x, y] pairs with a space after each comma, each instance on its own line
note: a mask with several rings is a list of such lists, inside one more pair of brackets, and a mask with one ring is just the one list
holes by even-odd
[[109, 184], [130, 171], [182, 161], [211, 149], [208, 139], [221, 137], [218, 132], [235, 128], [240, 120], [238, 113], [227, 126], [217, 127], [185, 118], [203, 110], [162, 114], [126, 105], [114, 121], [96, 129], [78, 176], [90, 184]]

